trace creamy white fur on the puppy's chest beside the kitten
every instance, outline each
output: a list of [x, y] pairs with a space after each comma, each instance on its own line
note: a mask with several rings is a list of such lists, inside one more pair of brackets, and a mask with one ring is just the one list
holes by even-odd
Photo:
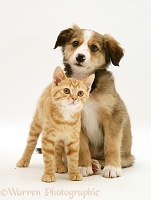
[[91, 145], [95, 148], [103, 143], [103, 131], [99, 123], [99, 103], [90, 96], [82, 110], [82, 126], [85, 130]]

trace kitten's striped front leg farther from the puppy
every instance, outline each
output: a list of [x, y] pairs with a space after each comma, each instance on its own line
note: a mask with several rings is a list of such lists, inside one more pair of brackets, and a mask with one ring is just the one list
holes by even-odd
[[42, 153], [44, 159], [44, 174], [41, 178], [44, 182], [54, 182], [55, 179], [55, 133], [44, 130], [42, 136]]

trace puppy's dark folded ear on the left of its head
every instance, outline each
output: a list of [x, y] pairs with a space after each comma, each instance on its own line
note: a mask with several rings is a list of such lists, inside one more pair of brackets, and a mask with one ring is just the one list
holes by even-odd
[[61, 31], [57, 37], [54, 49], [60, 46], [64, 46], [71, 39], [73, 32], [74, 30], [72, 28]]

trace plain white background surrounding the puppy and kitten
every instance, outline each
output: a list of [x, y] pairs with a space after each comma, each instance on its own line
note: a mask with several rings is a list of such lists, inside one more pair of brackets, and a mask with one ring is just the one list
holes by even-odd
[[[15, 169], [27, 139], [28, 128], [42, 90], [52, 72], [62, 66], [60, 48], [53, 50], [62, 29], [77, 24], [101, 34], [109, 33], [125, 50], [120, 67], [111, 65], [117, 91], [127, 105], [133, 132], [136, 163], [118, 179], [100, 175], [71, 182], [67, 174], [57, 182], [40, 181], [41, 155], [33, 155], [30, 167]], [[151, 180], [151, 3], [149, 0], [0, 0], [0, 199], [13, 199], [7, 188], [40, 190], [37, 199], [47, 199], [44, 188], [60, 196], [91, 190], [85, 199], [150, 199]], [[65, 191], [67, 190], [67, 191]], [[99, 190], [95, 195], [92, 190]], [[82, 194], [83, 194], [82, 193]], [[92, 194], [93, 193], [93, 194]], [[18, 199], [34, 199], [32, 195]], [[73, 199], [82, 199], [77, 193]]]

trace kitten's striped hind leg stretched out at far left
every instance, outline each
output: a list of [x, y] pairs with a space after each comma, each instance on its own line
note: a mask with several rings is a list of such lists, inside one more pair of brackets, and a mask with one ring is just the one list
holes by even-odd
[[40, 122], [34, 118], [30, 127], [26, 148], [21, 159], [16, 164], [17, 167], [27, 167], [29, 165], [31, 156], [37, 144], [38, 137], [41, 133], [41, 129]]

